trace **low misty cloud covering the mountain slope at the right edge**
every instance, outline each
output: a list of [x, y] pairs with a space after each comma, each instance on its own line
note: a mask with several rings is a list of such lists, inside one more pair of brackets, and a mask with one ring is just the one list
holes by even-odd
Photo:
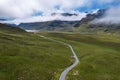
[[92, 23], [120, 24], [120, 6], [108, 9], [102, 18], [95, 19]]

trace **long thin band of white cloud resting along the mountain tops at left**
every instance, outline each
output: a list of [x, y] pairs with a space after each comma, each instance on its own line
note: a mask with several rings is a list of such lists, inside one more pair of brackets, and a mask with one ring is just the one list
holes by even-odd
[[29, 23], [29, 22], [45, 22], [45, 21], [52, 21], [52, 20], [63, 20], [63, 21], [78, 21], [81, 20], [83, 17], [86, 16], [86, 13], [76, 13], [78, 16], [34, 16], [30, 18], [19, 18], [13, 21], [1, 21], [1, 23], [15, 23], [19, 25], [20, 23]]

